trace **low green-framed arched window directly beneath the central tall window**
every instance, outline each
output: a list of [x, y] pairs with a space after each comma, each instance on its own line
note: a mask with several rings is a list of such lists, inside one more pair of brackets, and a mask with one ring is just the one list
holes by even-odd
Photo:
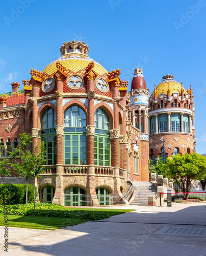
[[82, 187], [68, 187], [64, 190], [65, 206], [86, 206], [87, 192]]

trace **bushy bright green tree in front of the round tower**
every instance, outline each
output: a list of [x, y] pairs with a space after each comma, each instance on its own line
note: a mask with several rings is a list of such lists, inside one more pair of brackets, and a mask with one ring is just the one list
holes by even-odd
[[[206, 177], [206, 158], [196, 153], [178, 154], [172, 156], [172, 159], [167, 158], [163, 170], [177, 183], [182, 182], [182, 192], [188, 193], [192, 180]], [[188, 198], [189, 194], [184, 194], [184, 199], [187, 200]]]

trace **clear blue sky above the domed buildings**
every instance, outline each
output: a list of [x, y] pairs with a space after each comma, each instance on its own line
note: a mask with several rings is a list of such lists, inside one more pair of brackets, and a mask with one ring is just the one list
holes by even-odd
[[[89, 56], [132, 82], [143, 68], [150, 93], [167, 73], [195, 101], [196, 152], [206, 153], [206, 0], [8, 1], [0, 10], [0, 93], [60, 57], [64, 41], [84, 40]], [[130, 88], [130, 87], [129, 87]], [[20, 89], [23, 89], [22, 83]]]

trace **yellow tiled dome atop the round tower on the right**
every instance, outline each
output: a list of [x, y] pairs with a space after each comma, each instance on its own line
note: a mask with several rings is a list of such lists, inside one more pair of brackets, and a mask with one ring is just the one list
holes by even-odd
[[[167, 74], [166, 76], [163, 76], [163, 81], [156, 87], [157, 91], [157, 97], [159, 97], [160, 94], [164, 93], [167, 95], [168, 90], [168, 83], [169, 83], [169, 89], [170, 89], [170, 96], [172, 96], [173, 93], [178, 93], [178, 95], [181, 95], [181, 89], [182, 85], [179, 84], [176, 80], [173, 79], [173, 75]], [[183, 88], [184, 94], [188, 92]], [[155, 90], [152, 92], [151, 97], [154, 96]]]

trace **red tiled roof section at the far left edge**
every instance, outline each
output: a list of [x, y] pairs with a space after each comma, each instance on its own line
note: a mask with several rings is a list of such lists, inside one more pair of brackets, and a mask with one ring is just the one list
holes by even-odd
[[4, 93], [1, 94], [0, 97], [6, 98], [6, 106], [18, 105], [24, 103], [24, 92], [20, 90], [14, 93]]

